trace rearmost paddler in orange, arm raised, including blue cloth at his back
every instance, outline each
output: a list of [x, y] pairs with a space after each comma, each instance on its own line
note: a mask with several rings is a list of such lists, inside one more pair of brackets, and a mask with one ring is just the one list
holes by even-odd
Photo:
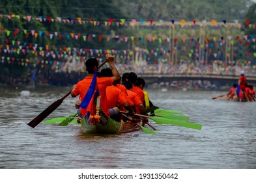
[[[92, 120], [94, 118], [97, 119], [96, 107], [100, 107], [107, 116], [110, 116], [110, 112], [107, 109], [106, 88], [113, 85], [115, 81], [118, 81], [120, 76], [115, 67], [113, 56], [107, 54], [106, 60], [111, 67], [113, 77], [97, 77], [98, 60], [96, 58], [89, 58], [85, 61], [87, 76], [73, 86], [71, 96], [73, 98], [79, 96], [76, 107], [79, 107], [78, 116], [80, 119], [84, 116]], [[79, 103], [80, 101], [81, 103]]]

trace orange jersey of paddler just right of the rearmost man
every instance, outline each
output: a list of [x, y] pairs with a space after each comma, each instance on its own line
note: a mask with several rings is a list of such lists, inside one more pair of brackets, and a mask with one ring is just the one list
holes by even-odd
[[128, 101], [128, 96], [124, 94], [119, 88], [111, 85], [106, 88], [107, 94], [107, 109], [111, 109], [113, 107], [117, 107], [117, 103], [123, 105], [126, 101]]

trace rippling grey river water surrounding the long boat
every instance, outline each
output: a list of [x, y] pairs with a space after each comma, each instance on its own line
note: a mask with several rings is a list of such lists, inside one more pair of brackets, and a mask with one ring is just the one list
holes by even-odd
[[[157, 125], [156, 135], [88, 135], [79, 125], [59, 127], [29, 123], [70, 88], [21, 90], [0, 88], [0, 168], [256, 168], [256, 103], [236, 103], [212, 96], [223, 92], [148, 90], [163, 109], [182, 110], [201, 131]], [[68, 97], [49, 118], [76, 112]]]

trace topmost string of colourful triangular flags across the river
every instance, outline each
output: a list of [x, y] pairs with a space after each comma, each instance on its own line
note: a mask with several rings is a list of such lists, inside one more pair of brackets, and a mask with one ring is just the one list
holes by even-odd
[[51, 16], [31, 16], [31, 15], [18, 15], [18, 14], [0, 14], [0, 18], [2, 19], [22, 19], [25, 21], [40, 21], [42, 23], [63, 23], [63, 24], [81, 24], [81, 25], [93, 25], [93, 26], [116, 26], [116, 27], [136, 27], [136, 26], [160, 26], [160, 27], [195, 27], [195, 26], [225, 26], [228, 28], [234, 27], [237, 29], [241, 28], [253, 28], [255, 29], [254, 23], [249, 23], [249, 19], [244, 19], [244, 21], [239, 22], [238, 19], [234, 19], [233, 22], [227, 22], [227, 20], [223, 19], [222, 21], [216, 21], [216, 19], [211, 19], [210, 21], [197, 21], [193, 19], [192, 21], [186, 21], [185, 19], [181, 19], [180, 21], [171, 19], [169, 21], [164, 21], [163, 19], [154, 20], [154, 19], [124, 19], [124, 18], [109, 18], [109, 19], [101, 19], [101, 18], [62, 18], [62, 17], [51, 17]]

